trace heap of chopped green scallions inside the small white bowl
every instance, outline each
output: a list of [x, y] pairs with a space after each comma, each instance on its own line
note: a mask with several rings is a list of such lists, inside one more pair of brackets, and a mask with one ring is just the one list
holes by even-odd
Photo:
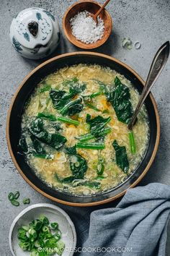
[[[45, 216], [40, 216], [27, 226], [18, 229], [19, 247], [24, 251], [31, 252], [31, 256], [52, 255], [53, 253], [47, 253], [47, 248], [57, 249], [55, 252], [62, 255], [65, 244], [61, 241], [61, 236], [58, 223], [49, 223]], [[40, 247], [44, 249], [43, 252], [40, 252]]]

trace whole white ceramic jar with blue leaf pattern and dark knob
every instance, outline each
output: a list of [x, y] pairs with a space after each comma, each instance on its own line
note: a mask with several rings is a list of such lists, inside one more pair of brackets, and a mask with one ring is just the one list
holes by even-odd
[[14, 49], [28, 59], [42, 59], [58, 46], [60, 28], [50, 12], [29, 8], [19, 12], [12, 20], [10, 38]]

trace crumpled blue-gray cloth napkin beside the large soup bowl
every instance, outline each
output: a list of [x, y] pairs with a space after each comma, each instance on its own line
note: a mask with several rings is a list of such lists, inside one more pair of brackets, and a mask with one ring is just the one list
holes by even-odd
[[128, 189], [116, 208], [94, 210], [90, 223], [79, 217], [80, 256], [165, 256], [169, 212], [169, 186]]

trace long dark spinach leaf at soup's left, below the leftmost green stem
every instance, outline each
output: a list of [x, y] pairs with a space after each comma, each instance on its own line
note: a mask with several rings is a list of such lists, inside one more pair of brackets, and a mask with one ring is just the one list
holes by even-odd
[[60, 135], [59, 133], [49, 133], [44, 129], [43, 120], [36, 118], [33, 120], [28, 129], [32, 135], [34, 135], [38, 140], [44, 142], [55, 150], [59, 150], [66, 143], [66, 137]]

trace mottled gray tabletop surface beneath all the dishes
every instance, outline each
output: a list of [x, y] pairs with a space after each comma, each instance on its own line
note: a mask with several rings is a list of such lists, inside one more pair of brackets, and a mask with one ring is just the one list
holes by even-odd
[[[51, 202], [35, 192], [34, 189], [24, 182], [22, 176], [17, 172], [14, 163], [12, 163], [6, 145], [6, 113], [12, 95], [17, 90], [19, 82], [23, 80], [24, 76], [40, 63], [22, 59], [22, 57], [14, 51], [9, 41], [9, 26], [12, 22], [12, 18], [19, 11], [27, 7], [42, 7], [48, 9], [55, 14], [55, 17], [58, 18], [61, 24], [64, 12], [73, 2], [73, 0], [0, 0], [0, 256], [12, 255], [9, 251], [8, 242], [9, 227], [14, 217], [25, 208], [24, 205], [21, 205], [19, 208], [12, 206], [7, 200], [8, 193], [19, 189], [21, 198], [30, 197], [32, 204], [37, 202]], [[101, 0], [100, 2], [102, 3], [103, 1]], [[113, 33], [107, 43], [96, 51], [124, 61], [146, 80], [153, 55], [162, 43], [170, 39], [170, 1], [112, 0], [107, 9], [112, 14], [114, 22]], [[139, 40], [142, 45], [140, 50], [133, 49], [127, 51], [123, 49], [121, 40], [125, 36], [130, 36], [133, 42]], [[53, 55], [79, 50], [79, 48], [71, 45], [63, 35], [60, 46]], [[152, 91], [156, 98], [161, 117], [161, 142], [156, 160], [140, 184], [162, 182], [170, 185], [170, 61]], [[109, 204], [109, 207], [116, 203], [117, 202], [112, 202]], [[77, 220], [84, 218], [86, 221], [91, 211], [91, 208], [79, 209], [78, 215], [74, 213], [73, 208], [66, 208], [63, 205], [60, 206], [71, 215], [76, 226], [79, 225]], [[107, 207], [107, 205], [105, 205], [105, 207]], [[167, 256], [169, 255], [170, 225], [168, 227], [167, 240]]]

